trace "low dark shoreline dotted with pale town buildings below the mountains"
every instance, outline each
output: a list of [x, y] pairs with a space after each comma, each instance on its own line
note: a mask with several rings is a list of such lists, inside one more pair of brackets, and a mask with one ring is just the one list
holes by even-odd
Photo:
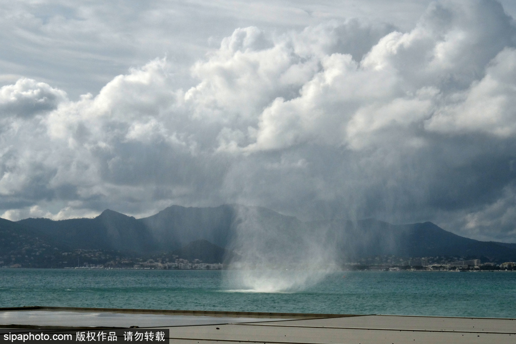
[[[102, 250], [73, 250], [57, 248], [26, 248], [12, 252], [0, 260], [2, 268], [65, 268], [65, 269], [166, 269], [166, 270], [224, 270], [228, 265], [206, 263], [201, 259], [186, 259], [174, 254], [137, 257]], [[289, 268], [302, 269], [292, 266]], [[482, 262], [471, 257], [397, 257], [374, 256], [340, 264], [342, 270], [354, 271], [516, 271], [516, 263]]]

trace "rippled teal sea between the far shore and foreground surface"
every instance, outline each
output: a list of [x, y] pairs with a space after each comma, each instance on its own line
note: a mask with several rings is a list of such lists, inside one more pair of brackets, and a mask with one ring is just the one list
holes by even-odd
[[516, 272], [344, 271], [296, 292], [235, 290], [232, 273], [0, 269], [0, 307], [516, 318]]

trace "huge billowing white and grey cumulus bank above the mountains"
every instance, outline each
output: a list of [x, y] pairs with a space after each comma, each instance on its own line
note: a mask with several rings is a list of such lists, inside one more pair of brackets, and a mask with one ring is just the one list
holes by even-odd
[[234, 202], [515, 240], [516, 31], [499, 3], [432, 3], [408, 31], [329, 20], [219, 41], [187, 81], [162, 58], [76, 101], [4, 86], [3, 214]]

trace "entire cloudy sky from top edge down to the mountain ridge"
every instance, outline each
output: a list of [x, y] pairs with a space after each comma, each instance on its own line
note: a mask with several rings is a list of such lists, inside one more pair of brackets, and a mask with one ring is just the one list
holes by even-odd
[[516, 2], [0, 2], [0, 217], [264, 206], [516, 242]]

